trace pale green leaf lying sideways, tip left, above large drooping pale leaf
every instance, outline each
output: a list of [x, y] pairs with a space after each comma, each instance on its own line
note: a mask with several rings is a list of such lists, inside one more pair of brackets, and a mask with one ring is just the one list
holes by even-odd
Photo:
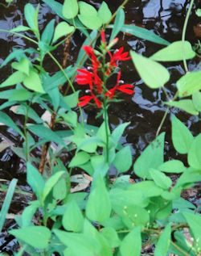
[[195, 52], [191, 44], [188, 41], [177, 41], [154, 53], [150, 58], [154, 61], [183, 61], [183, 59], [189, 60], [193, 57], [195, 57]]

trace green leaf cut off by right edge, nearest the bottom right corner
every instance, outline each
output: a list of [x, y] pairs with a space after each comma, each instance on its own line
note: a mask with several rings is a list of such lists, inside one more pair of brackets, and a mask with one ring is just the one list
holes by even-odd
[[201, 247], [201, 215], [199, 213], [194, 212], [183, 212], [183, 216], [187, 220], [187, 224], [189, 225], [193, 237], [195, 238], [195, 246]]

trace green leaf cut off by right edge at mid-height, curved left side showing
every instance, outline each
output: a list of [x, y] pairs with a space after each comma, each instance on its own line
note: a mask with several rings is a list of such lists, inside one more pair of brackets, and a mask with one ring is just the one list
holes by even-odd
[[195, 137], [188, 152], [188, 163], [196, 170], [201, 170], [201, 134]]

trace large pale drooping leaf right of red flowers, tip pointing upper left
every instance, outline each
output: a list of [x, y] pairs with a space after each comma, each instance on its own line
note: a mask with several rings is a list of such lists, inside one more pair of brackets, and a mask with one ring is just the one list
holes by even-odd
[[164, 86], [169, 81], [170, 73], [161, 64], [133, 51], [130, 54], [137, 72], [147, 86], [156, 89]]

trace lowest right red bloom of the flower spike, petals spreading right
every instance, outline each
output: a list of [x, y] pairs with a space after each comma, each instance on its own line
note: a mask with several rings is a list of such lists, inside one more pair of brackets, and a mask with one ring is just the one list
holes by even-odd
[[129, 94], [129, 95], [134, 94], [134, 90], [132, 90], [134, 87], [133, 85], [130, 85], [130, 84], [125, 84], [125, 85], [121, 85], [121, 86], [119, 85], [120, 78], [121, 78], [121, 71], [119, 71], [117, 73], [116, 86], [114, 86], [112, 89], [108, 90], [105, 94], [105, 96], [109, 97], [109, 99], [113, 99], [116, 90], [120, 90], [121, 92], [123, 92], [125, 94]]

